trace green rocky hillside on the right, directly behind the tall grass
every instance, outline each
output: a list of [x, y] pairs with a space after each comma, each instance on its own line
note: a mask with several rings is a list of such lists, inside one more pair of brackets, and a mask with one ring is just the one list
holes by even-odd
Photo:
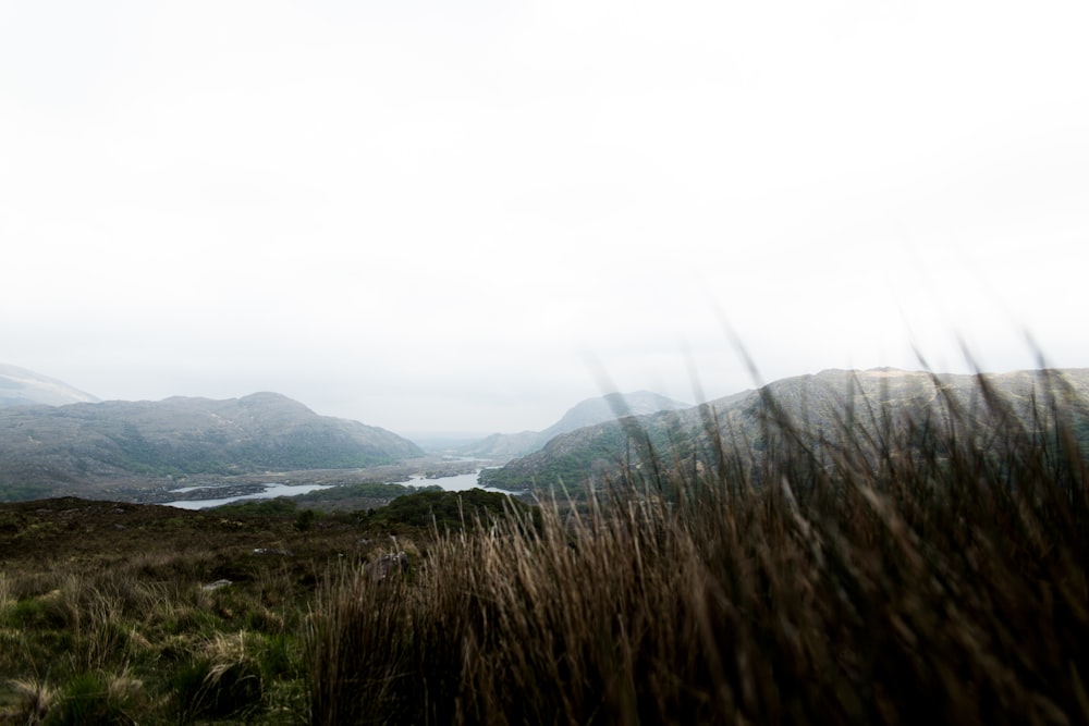
[[[1030, 430], [1051, 426], [1047, 417], [1055, 413], [1070, 416], [1074, 433], [1089, 453], [1089, 369], [982, 377], [890, 368], [827, 370], [686, 410], [585, 427], [501, 469], [486, 469], [480, 483], [527, 490], [562, 481], [577, 488], [614, 477], [622, 466], [644, 472], [654, 467], [715, 466], [720, 452], [750, 469], [760, 456], [785, 451], [792, 443], [800, 442], [816, 457], [828, 457], [844, 445], [879, 445], [883, 433], [903, 434], [920, 421], [929, 428], [915, 432], [917, 446], [927, 441], [932, 445], [933, 436], [954, 423], [987, 446], [988, 436], [996, 435], [995, 419], [1001, 418], [996, 409]], [[648, 451], [652, 451], [649, 457]]]

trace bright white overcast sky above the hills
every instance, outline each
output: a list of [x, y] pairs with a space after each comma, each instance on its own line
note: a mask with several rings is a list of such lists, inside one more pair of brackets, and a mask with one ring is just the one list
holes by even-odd
[[0, 362], [543, 429], [1089, 366], [1084, 2], [0, 0]]

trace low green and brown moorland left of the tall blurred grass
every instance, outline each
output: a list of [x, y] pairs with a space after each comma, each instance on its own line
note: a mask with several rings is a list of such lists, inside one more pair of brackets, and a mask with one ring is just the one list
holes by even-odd
[[290, 500], [3, 505], [0, 724], [308, 723], [305, 636], [330, 563], [399, 551], [413, 563], [437, 524], [504, 501], [429, 491], [337, 514]]

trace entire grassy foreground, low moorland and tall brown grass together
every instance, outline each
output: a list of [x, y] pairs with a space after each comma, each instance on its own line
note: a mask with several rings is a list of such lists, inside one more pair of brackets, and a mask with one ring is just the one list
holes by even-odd
[[1038, 394], [708, 410], [539, 509], [4, 507], [0, 721], [1086, 723], [1084, 406]]

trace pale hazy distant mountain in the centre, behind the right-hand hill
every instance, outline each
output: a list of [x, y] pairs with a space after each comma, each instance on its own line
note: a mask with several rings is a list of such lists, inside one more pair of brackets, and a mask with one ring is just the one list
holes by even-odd
[[650, 391], [610, 393], [576, 404], [559, 421], [543, 431], [493, 433], [462, 447], [458, 453], [493, 462], [509, 462], [540, 450], [551, 439], [560, 434], [595, 423], [613, 421], [622, 416], [645, 416], [657, 411], [680, 410], [688, 407], [689, 404], [683, 404]]

